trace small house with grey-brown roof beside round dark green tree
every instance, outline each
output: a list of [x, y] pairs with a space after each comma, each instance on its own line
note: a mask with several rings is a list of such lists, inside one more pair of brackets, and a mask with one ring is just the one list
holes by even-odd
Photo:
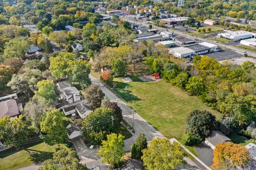
[[219, 144], [223, 142], [231, 141], [226, 135], [221, 133], [220, 131], [212, 131], [212, 133], [205, 138], [204, 143], [211, 147], [213, 150]]

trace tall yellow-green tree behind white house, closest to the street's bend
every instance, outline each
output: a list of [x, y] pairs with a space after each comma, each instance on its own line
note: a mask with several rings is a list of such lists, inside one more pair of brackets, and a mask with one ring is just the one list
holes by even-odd
[[70, 80], [77, 83], [83, 90], [91, 85], [89, 74], [91, 72], [91, 64], [86, 61], [76, 60], [70, 62]]

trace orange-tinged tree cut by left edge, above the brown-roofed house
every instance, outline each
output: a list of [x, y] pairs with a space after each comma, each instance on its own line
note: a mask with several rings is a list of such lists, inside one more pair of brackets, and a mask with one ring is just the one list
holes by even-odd
[[11, 67], [0, 64], [0, 94], [5, 91], [7, 83], [12, 79], [12, 74]]

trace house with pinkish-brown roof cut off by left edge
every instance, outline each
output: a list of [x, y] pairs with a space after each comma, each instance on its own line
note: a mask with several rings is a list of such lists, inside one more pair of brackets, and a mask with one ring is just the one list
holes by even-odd
[[5, 115], [17, 117], [20, 114], [17, 101], [14, 99], [1, 101], [0, 108], [0, 118]]

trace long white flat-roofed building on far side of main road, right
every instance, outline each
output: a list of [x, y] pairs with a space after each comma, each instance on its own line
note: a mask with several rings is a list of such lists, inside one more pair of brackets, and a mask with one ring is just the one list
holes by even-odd
[[231, 31], [231, 32], [218, 33], [217, 37], [223, 37], [233, 41], [239, 41], [246, 38], [255, 38], [256, 33], [249, 32], [249, 31]]

